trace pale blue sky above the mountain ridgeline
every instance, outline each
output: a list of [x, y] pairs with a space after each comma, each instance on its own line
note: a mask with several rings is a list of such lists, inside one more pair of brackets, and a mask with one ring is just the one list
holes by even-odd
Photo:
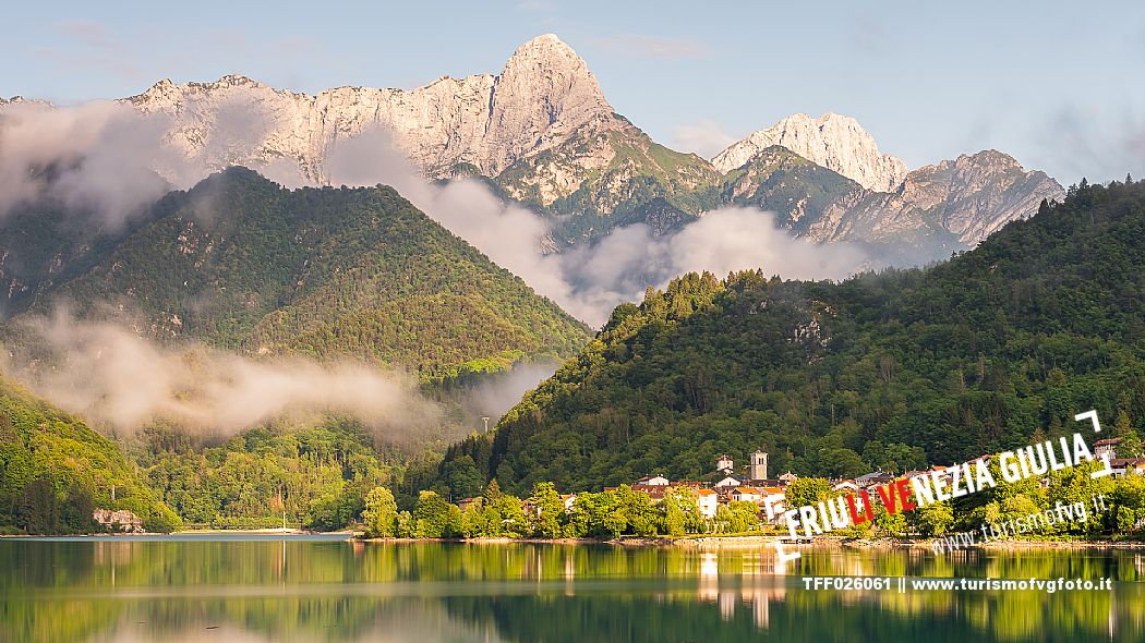
[[411, 88], [497, 72], [553, 32], [618, 112], [679, 149], [835, 111], [911, 167], [996, 148], [1065, 184], [1145, 177], [1139, 2], [159, 5], [6, 8], [0, 95], [66, 104], [227, 73]]

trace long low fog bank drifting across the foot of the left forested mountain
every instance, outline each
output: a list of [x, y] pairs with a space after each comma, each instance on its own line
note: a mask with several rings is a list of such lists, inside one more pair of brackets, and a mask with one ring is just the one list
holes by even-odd
[[333, 413], [406, 442], [441, 415], [411, 379], [360, 364], [253, 360], [203, 346], [176, 350], [65, 312], [25, 320], [21, 332], [32, 341], [14, 349], [6, 372], [62, 408], [119, 430], [169, 421], [230, 435], [276, 418]]

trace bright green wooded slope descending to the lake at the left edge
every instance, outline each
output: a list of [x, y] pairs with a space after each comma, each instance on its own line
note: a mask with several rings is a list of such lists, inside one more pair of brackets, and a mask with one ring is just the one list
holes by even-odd
[[0, 379], [0, 531], [86, 533], [95, 508], [129, 509], [150, 531], [177, 524], [111, 440]]

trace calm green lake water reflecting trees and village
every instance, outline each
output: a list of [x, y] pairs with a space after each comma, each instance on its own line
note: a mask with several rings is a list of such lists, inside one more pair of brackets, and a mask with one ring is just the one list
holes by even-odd
[[[891, 577], [889, 590], [804, 575]], [[900, 593], [898, 578], [1112, 578], [1099, 592]], [[1145, 554], [0, 540], [0, 641], [1145, 641]]]

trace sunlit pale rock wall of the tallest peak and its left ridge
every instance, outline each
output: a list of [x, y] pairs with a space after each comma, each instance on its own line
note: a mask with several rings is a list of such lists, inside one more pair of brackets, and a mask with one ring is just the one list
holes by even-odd
[[169, 117], [168, 142], [208, 166], [293, 161], [313, 182], [327, 178], [334, 141], [377, 126], [429, 176], [452, 175], [461, 165], [496, 176], [584, 125], [626, 125], [584, 61], [551, 34], [522, 45], [499, 76], [442, 77], [408, 92], [339, 87], [311, 96], [227, 76], [206, 84], [164, 80], [126, 102]]

